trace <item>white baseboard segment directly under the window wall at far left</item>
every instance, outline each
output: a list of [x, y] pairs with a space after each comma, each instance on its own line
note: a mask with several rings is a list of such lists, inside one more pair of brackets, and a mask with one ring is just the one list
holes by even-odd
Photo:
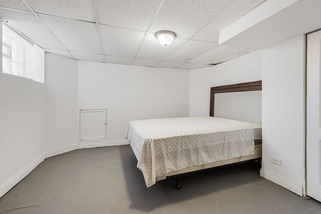
[[34, 170], [42, 161], [44, 161], [45, 155], [41, 155], [34, 162], [29, 164], [25, 169], [21, 170], [15, 177], [10, 179], [7, 183], [0, 187], [0, 197], [5, 195], [10, 189], [12, 189], [17, 183], [24, 179], [32, 170]]

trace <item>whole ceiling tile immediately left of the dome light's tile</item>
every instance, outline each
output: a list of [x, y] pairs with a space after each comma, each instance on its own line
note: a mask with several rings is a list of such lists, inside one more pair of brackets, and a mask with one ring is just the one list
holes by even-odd
[[134, 57], [145, 35], [142, 31], [99, 25], [104, 54]]

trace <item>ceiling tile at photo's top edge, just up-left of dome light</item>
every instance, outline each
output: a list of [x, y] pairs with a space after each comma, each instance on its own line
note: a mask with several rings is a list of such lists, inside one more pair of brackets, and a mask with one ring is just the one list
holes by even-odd
[[161, 0], [96, 0], [100, 24], [146, 31]]

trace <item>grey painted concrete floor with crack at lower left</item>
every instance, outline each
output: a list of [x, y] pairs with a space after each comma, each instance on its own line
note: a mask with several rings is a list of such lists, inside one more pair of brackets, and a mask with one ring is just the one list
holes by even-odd
[[259, 176], [255, 162], [216, 168], [147, 188], [129, 145], [80, 149], [46, 159], [0, 198], [13, 213], [321, 213]]

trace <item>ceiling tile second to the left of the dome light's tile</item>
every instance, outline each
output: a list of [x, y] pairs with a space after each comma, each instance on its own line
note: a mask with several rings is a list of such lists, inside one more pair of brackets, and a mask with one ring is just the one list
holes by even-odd
[[40, 15], [69, 51], [101, 54], [95, 23]]

